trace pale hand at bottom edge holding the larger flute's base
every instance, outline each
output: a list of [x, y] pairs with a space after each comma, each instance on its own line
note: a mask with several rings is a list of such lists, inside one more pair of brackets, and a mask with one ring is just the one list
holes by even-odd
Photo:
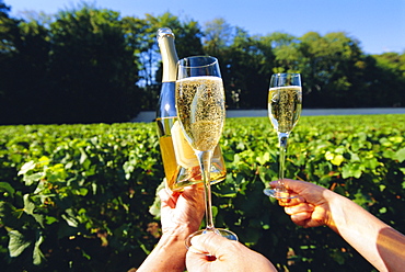
[[189, 272], [277, 271], [264, 256], [212, 233], [193, 237], [192, 245], [186, 256]]

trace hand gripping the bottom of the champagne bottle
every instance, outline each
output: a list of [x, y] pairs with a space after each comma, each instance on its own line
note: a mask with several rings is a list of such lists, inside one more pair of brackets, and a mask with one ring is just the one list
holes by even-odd
[[182, 233], [188, 236], [198, 230], [205, 214], [201, 184], [187, 186], [183, 192], [162, 189], [159, 197], [163, 234]]

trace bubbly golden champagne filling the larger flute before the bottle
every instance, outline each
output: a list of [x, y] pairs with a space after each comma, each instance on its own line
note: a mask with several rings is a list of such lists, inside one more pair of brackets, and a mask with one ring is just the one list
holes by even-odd
[[194, 149], [212, 150], [225, 118], [222, 79], [192, 77], [176, 82], [176, 107], [185, 136]]

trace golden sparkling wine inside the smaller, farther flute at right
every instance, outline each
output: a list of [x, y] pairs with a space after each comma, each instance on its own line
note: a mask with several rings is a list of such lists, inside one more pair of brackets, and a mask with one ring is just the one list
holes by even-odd
[[268, 116], [278, 133], [290, 133], [301, 115], [301, 87], [287, 86], [270, 88]]

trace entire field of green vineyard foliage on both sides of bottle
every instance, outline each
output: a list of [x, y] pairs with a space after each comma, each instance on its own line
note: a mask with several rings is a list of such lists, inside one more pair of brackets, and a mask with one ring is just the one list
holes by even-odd
[[[302, 117], [286, 177], [334, 190], [405, 233], [405, 115]], [[157, 238], [163, 179], [154, 124], [0, 127], [0, 257], [4, 271], [127, 271]], [[212, 188], [216, 226], [280, 271], [372, 271], [328, 228], [296, 226], [263, 194], [277, 179], [269, 121], [229, 118], [225, 181]]]

